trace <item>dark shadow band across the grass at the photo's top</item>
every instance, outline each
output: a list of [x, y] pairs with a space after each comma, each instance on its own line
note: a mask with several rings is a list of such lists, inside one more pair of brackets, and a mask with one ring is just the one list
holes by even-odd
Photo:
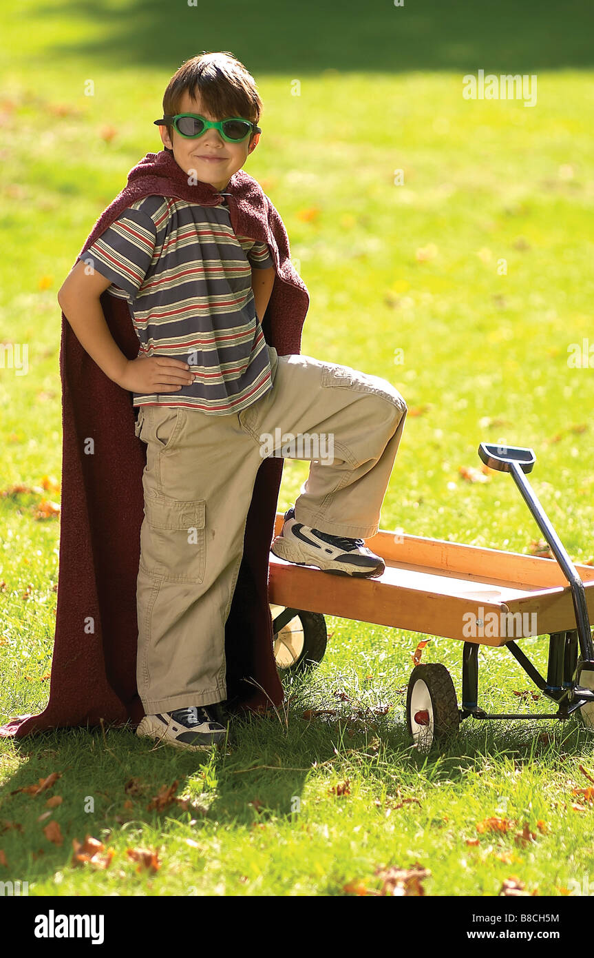
[[402, 7], [385, 0], [364, 6], [358, 0], [302, 0], [297, 6], [221, 0], [211, 7], [162, 0], [92, 7], [61, 2], [42, 6], [37, 16], [41, 23], [86, 21], [85, 42], [49, 46], [45, 56], [87, 57], [91, 70], [95, 59], [101, 69], [137, 64], [172, 74], [203, 50], [231, 51], [256, 78], [287, 71], [299, 78], [327, 69], [467, 73], [483, 67], [526, 74], [588, 67], [594, 57], [594, 9], [583, 0], [405, 0]]

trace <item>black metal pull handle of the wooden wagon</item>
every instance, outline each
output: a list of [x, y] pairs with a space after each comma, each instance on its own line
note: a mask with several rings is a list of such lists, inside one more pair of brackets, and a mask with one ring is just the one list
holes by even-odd
[[525, 472], [532, 471], [532, 467], [536, 462], [533, 449], [523, 448], [519, 445], [481, 443], [478, 446], [478, 455], [486, 466], [492, 469], [498, 469], [501, 472], [512, 473], [524, 502], [533, 514], [540, 532], [551, 547], [551, 552], [555, 556], [555, 559], [557, 559], [561, 565], [565, 579], [569, 582], [573, 598], [573, 607], [576, 613], [578, 635], [580, 637], [583, 668], [588, 670], [594, 669], [594, 644], [592, 643], [592, 633], [590, 631], [590, 620], [588, 607], [585, 602], [583, 582], [578, 575], [578, 570], [575, 565], [571, 559], [569, 559], [560, 537], [553, 529], [548, 516], [540, 505], [535, 491], [524, 475]]

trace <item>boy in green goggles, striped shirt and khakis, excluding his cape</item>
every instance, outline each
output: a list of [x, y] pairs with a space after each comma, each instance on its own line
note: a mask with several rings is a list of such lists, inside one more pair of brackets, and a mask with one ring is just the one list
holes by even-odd
[[[137, 685], [145, 716], [137, 732], [189, 749], [226, 734], [213, 708], [227, 697], [225, 623], [269, 438], [319, 430], [333, 440], [323, 461], [318, 446], [294, 456], [312, 465], [275, 555], [377, 577], [384, 562], [361, 536], [377, 532], [407, 412], [385, 379], [278, 355], [264, 338], [272, 250], [234, 232], [226, 204], [258, 143], [260, 109], [253, 78], [231, 54], [187, 61], [155, 123], [175, 170], [209, 202], [144, 195], [95, 239], [58, 293], [81, 345], [139, 407], [146, 468]], [[106, 290], [127, 300], [140, 340], [135, 359], [106, 327]], [[289, 455], [278, 447], [274, 454]]]

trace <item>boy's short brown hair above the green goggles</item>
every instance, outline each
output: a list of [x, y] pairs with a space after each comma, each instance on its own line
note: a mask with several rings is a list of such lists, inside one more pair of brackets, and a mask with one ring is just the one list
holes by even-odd
[[[260, 119], [262, 101], [255, 80], [229, 50], [218, 53], [203, 51], [182, 64], [167, 84], [163, 98], [164, 116], [175, 116], [179, 112], [185, 90], [192, 98], [198, 90], [213, 117], [239, 116], [255, 124]], [[166, 129], [173, 141], [173, 127], [167, 125]]]

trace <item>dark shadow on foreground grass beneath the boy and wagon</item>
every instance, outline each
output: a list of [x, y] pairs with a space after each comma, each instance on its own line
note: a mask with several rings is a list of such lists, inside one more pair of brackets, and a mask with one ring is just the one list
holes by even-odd
[[[527, 728], [525, 722], [463, 723], [456, 737], [423, 755], [393, 717], [358, 723], [306, 720], [300, 709], [290, 708], [280, 718], [235, 719], [227, 746], [209, 752], [154, 745], [125, 727], [65, 729], [14, 741], [16, 755], [29, 761], [21, 762], [0, 789], [0, 849], [7, 860], [0, 878], [39, 882], [69, 870], [72, 840], [82, 841], [86, 834], [109, 845], [110, 836], [125, 832], [129, 847], [145, 847], [150, 843], [145, 830], [184, 835], [184, 827], [191, 826], [189, 833], [200, 837], [202, 829], [211, 834], [210, 828], [219, 825], [244, 832], [295, 822], [306, 779], [321, 768], [338, 782], [361, 771], [369, 793], [387, 786], [395, 794], [399, 774], [408, 793], [418, 774], [426, 787], [446, 779], [463, 785], [469, 771], [479, 770], [487, 758], [513, 758], [517, 766], [539, 762], [553, 771], [568, 758], [587, 761], [592, 754], [593, 740], [577, 719], [565, 725], [535, 723], [545, 730], [540, 738], [540, 727]], [[50, 789], [34, 796], [17, 791], [52, 772], [60, 777]], [[176, 795], [188, 798], [187, 809], [171, 802], [151, 810], [151, 801], [175, 781]], [[46, 802], [55, 795], [62, 803], [49, 810]], [[39, 821], [47, 811], [50, 815]], [[61, 845], [43, 832], [51, 820], [60, 826]]]

